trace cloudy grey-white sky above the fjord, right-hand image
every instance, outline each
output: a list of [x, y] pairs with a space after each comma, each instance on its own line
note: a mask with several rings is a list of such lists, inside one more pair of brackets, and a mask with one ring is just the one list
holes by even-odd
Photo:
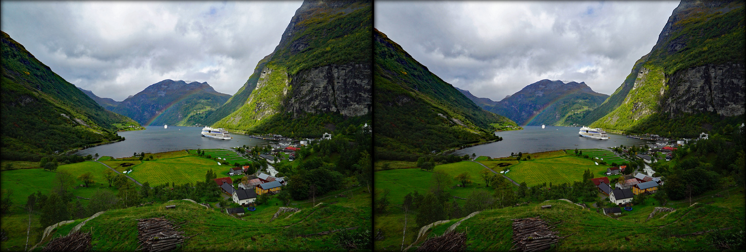
[[375, 28], [431, 72], [500, 101], [542, 79], [611, 95], [679, 1], [376, 1]]

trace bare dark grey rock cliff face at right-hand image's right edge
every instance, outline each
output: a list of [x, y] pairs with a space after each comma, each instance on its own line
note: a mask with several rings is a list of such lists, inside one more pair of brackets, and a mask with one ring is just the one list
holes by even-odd
[[676, 72], [668, 77], [661, 111], [671, 116], [700, 112], [742, 115], [746, 104], [744, 75], [743, 63], [707, 64]]

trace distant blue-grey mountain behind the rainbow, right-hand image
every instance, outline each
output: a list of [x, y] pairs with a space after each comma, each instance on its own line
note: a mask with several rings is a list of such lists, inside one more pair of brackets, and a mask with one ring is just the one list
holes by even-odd
[[573, 125], [580, 122], [583, 111], [598, 107], [608, 97], [585, 82], [542, 80], [485, 109], [519, 125]]

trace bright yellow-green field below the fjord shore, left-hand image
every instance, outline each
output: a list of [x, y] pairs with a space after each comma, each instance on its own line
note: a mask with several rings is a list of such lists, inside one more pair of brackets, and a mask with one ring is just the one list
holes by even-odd
[[131, 167], [133, 171], [128, 174], [130, 177], [140, 183], [148, 182], [151, 186], [162, 183], [193, 184], [204, 181], [204, 174], [210, 168], [218, 177], [225, 177], [231, 169], [231, 166], [219, 166], [215, 160], [194, 156], [147, 161]]

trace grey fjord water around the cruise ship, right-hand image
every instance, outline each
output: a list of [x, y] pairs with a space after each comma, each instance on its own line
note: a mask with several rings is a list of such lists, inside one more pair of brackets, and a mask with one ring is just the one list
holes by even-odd
[[[487, 157], [509, 157], [511, 152], [536, 153], [543, 151], [557, 151], [575, 148], [606, 148], [619, 145], [632, 146], [644, 144], [645, 140], [633, 139], [615, 133], [608, 133], [609, 139], [598, 140], [577, 136], [580, 127], [523, 126], [523, 130], [498, 132], [503, 138], [500, 142], [476, 145], [454, 152], [456, 155], [471, 155]], [[577, 146], [576, 146], [577, 145]]]

